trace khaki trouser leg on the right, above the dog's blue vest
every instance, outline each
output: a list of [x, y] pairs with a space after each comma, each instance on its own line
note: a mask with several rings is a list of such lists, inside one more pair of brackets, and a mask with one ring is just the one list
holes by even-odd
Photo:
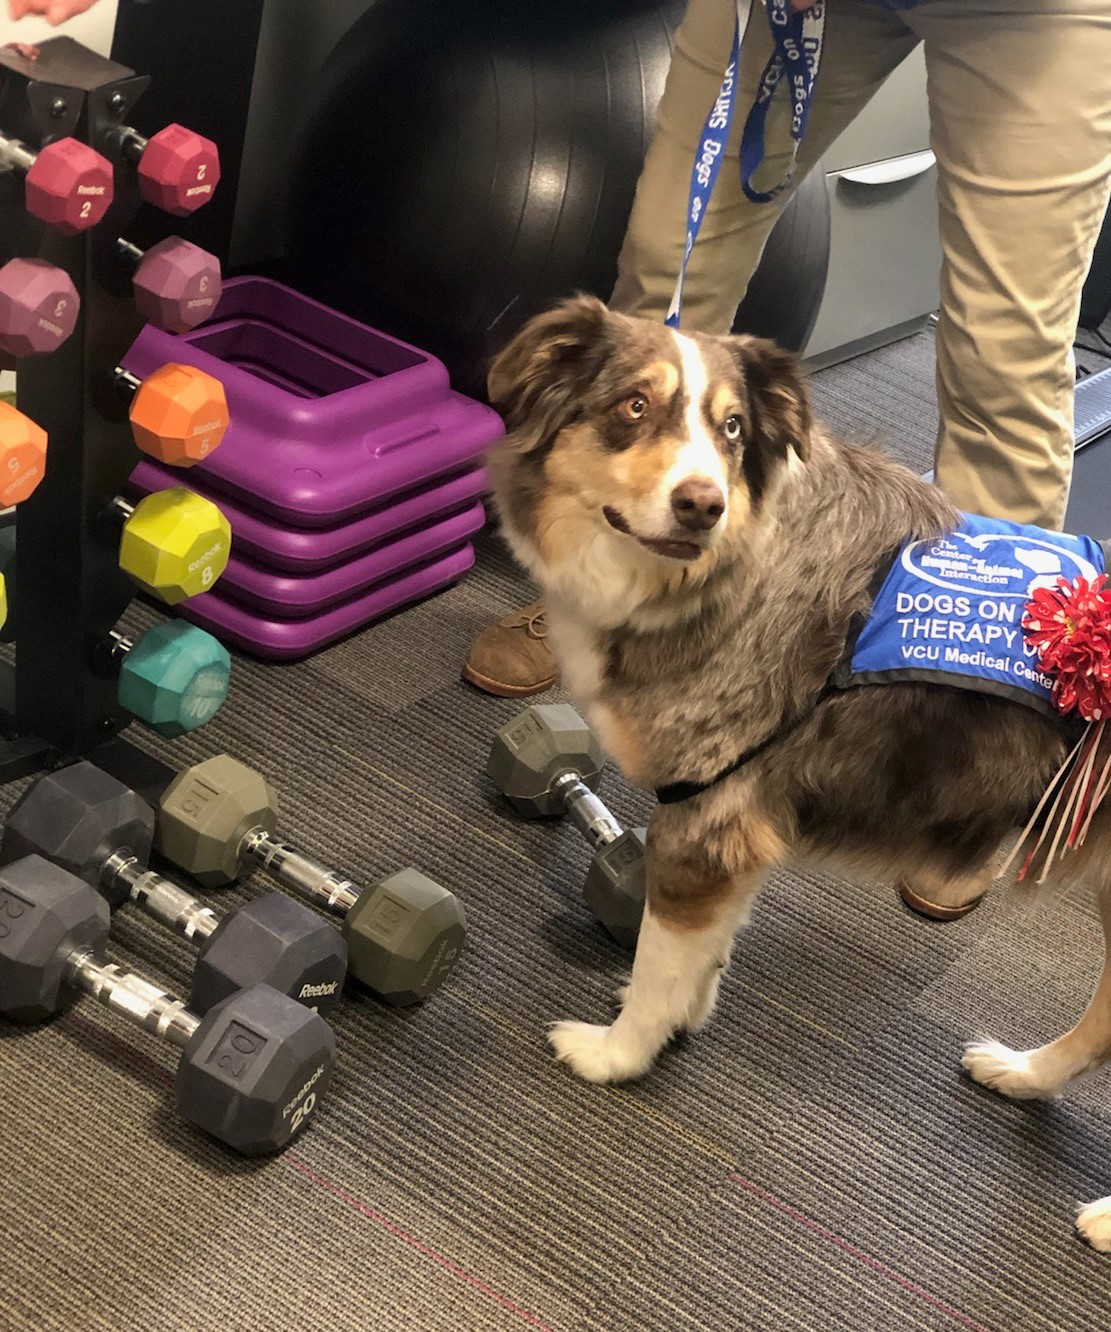
[[1111, 174], [1111, 5], [922, 0], [906, 19], [939, 170], [936, 480], [963, 509], [1059, 527], [1071, 346]]

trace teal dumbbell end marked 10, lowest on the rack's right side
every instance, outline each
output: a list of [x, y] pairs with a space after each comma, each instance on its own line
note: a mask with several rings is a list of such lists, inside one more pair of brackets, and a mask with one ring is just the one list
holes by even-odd
[[129, 647], [120, 666], [120, 706], [160, 735], [210, 722], [228, 697], [232, 658], [212, 634], [172, 619]]

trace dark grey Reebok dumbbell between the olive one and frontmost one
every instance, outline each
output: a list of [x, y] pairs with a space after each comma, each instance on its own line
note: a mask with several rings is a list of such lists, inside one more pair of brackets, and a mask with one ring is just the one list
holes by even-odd
[[340, 1000], [348, 950], [313, 911], [270, 892], [220, 916], [144, 868], [155, 811], [115, 777], [75, 763], [40, 778], [8, 815], [4, 864], [41, 855], [99, 888], [111, 906], [131, 899], [198, 948], [189, 1007], [206, 1014], [237, 990], [268, 984], [328, 1012]]

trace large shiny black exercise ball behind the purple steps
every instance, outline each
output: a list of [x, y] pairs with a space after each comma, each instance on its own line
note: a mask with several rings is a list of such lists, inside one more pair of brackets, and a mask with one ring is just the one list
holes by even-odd
[[[292, 280], [480, 392], [532, 314], [575, 290], [609, 296], [683, 8], [376, 0], [308, 93]], [[802, 210], [813, 237], [803, 202], [783, 224]], [[801, 277], [801, 304], [773, 301], [785, 345], [813, 326], [825, 265], [811, 256]]]

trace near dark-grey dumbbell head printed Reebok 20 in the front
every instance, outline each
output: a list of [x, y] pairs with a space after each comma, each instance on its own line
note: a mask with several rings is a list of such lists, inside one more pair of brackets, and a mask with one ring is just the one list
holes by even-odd
[[312, 1122], [334, 1064], [336, 1038], [320, 1014], [253, 986], [193, 1032], [177, 1066], [177, 1108], [244, 1156], [280, 1152]]

